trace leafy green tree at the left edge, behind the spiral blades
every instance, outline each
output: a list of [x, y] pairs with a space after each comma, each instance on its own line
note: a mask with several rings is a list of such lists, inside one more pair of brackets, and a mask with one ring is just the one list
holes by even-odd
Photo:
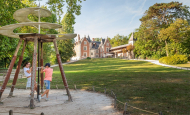
[[[13, 13], [26, 6], [20, 0], [1, 0], [0, 4], [0, 27], [16, 23], [16, 20], [13, 18]], [[0, 42], [0, 61], [4, 62], [2, 65], [6, 68], [12, 59], [18, 39], [0, 35]]]

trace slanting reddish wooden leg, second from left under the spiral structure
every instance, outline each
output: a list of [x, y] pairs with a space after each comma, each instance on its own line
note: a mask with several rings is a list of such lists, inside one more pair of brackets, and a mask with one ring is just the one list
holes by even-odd
[[9, 97], [13, 96], [13, 91], [14, 91], [14, 87], [15, 87], [17, 79], [18, 79], [18, 74], [20, 72], [20, 67], [21, 67], [21, 64], [22, 64], [25, 48], [26, 48], [26, 41], [24, 41], [24, 44], [23, 44], [22, 53], [21, 53], [20, 58], [19, 58], [19, 62], [18, 62], [18, 65], [17, 65], [17, 69], [16, 69], [16, 72], [15, 72], [13, 83], [12, 83], [12, 86], [11, 86], [11, 91], [9, 93]]

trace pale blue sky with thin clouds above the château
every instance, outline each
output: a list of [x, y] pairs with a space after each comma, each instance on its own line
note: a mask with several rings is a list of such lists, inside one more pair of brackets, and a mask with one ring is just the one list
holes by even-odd
[[[40, 3], [45, 4], [46, 1]], [[173, 0], [86, 0], [81, 4], [81, 15], [76, 16], [75, 33], [81, 37], [89, 35], [90, 38], [113, 38], [117, 34], [128, 36], [140, 26], [139, 19], [150, 6], [171, 1]], [[178, 2], [190, 6], [190, 0]], [[63, 10], [66, 13], [66, 6]]]

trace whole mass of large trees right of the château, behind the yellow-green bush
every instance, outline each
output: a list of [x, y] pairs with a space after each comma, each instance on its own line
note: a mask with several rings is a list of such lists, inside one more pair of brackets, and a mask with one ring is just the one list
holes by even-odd
[[189, 7], [179, 2], [156, 3], [140, 19], [135, 30], [136, 56], [158, 59], [174, 54], [189, 54]]

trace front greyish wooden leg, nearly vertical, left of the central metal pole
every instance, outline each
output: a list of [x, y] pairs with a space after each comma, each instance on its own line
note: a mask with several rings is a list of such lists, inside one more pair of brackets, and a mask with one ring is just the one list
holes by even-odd
[[36, 78], [36, 62], [37, 62], [37, 45], [38, 45], [38, 38], [37, 36], [34, 37], [34, 54], [33, 54], [33, 61], [32, 61], [32, 72], [31, 72], [31, 99], [30, 99], [30, 108], [35, 108], [34, 105], [34, 87], [35, 87], [35, 78]]

